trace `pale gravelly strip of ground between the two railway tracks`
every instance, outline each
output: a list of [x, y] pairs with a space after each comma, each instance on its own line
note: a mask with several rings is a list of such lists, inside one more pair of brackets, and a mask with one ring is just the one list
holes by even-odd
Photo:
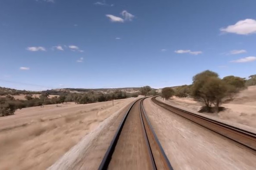
[[164, 108], [144, 108], [175, 170], [255, 170], [256, 154]]

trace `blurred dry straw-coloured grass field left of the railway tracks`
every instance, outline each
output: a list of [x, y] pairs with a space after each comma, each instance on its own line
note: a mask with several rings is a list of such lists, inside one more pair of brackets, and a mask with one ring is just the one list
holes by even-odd
[[[43, 170], [135, 98], [24, 108], [0, 118], [0, 170]], [[87, 135], [88, 134], [88, 135]]]

